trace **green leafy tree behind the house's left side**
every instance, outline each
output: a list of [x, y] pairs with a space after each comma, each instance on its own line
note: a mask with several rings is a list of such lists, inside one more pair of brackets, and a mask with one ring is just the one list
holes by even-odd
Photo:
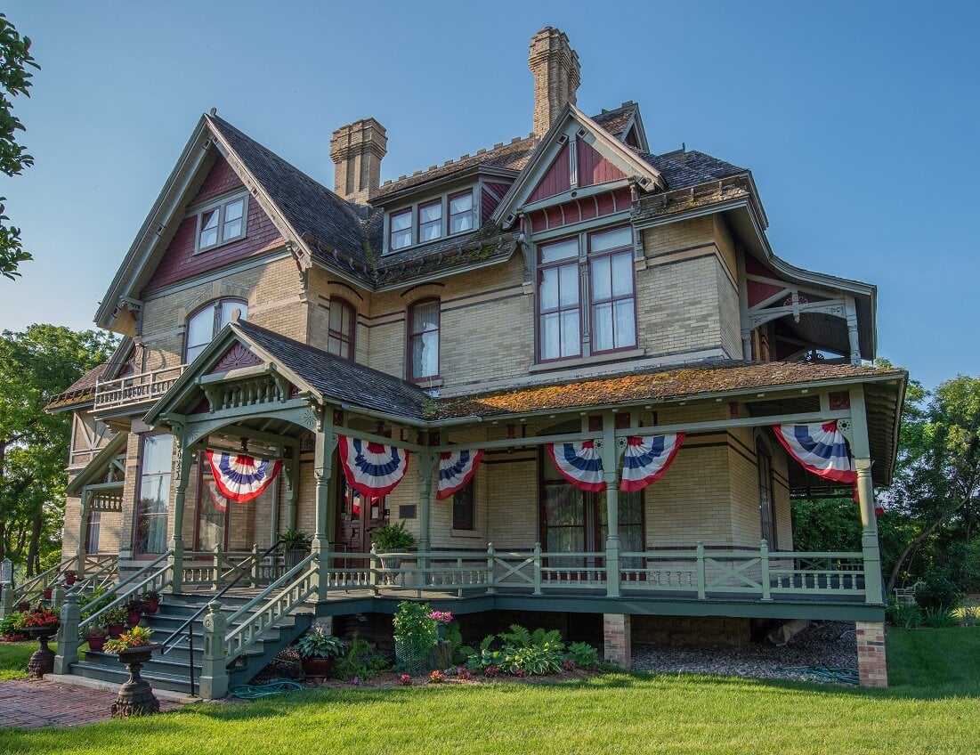
[[104, 362], [115, 337], [34, 325], [0, 334], [0, 559], [27, 574], [60, 550], [71, 416], [44, 407]]

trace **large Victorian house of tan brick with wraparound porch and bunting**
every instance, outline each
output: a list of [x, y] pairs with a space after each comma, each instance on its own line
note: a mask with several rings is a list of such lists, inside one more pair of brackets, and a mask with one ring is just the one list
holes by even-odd
[[[313, 615], [419, 597], [592, 628], [627, 665], [631, 640], [856, 621], [885, 683], [874, 485], [907, 376], [866, 366], [875, 287], [777, 257], [751, 171], [664, 151], [636, 103], [579, 110], [562, 31], [528, 64], [530, 134], [394, 180], [371, 118], [333, 132], [330, 187], [194, 126], [96, 313], [118, 352], [50, 407], [64, 564], [199, 613], [235, 582], [201, 614], [217, 649], [158, 683], [189, 658], [220, 696]], [[860, 550], [795, 551], [791, 496], [853, 492]], [[415, 546], [372, 552], [396, 523]]]

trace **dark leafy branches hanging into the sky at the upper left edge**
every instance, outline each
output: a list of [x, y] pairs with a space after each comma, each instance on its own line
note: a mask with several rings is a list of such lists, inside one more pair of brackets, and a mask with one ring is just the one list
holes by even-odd
[[[25, 146], [17, 142], [17, 132], [24, 130], [24, 124], [13, 114], [13, 98], [30, 96], [27, 90], [33, 75], [28, 66], [40, 68], [30, 54], [30, 38], [22, 37], [0, 13], [0, 171], [7, 176], [19, 176], [34, 164]], [[6, 224], [10, 220], [5, 214], [6, 201], [0, 197], [0, 274], [13, 280], [21, 275], [18, 266], [31, 257], [21, 245], [21, 229]]]

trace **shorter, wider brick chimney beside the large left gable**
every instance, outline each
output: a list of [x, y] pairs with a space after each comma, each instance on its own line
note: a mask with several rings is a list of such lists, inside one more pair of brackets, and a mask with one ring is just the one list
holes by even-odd
[[330, 138], [333, 191], [349, 202], [368, 204], [381, 185], [381, 159], [388, 136], [373, 118], [340, 126]]

